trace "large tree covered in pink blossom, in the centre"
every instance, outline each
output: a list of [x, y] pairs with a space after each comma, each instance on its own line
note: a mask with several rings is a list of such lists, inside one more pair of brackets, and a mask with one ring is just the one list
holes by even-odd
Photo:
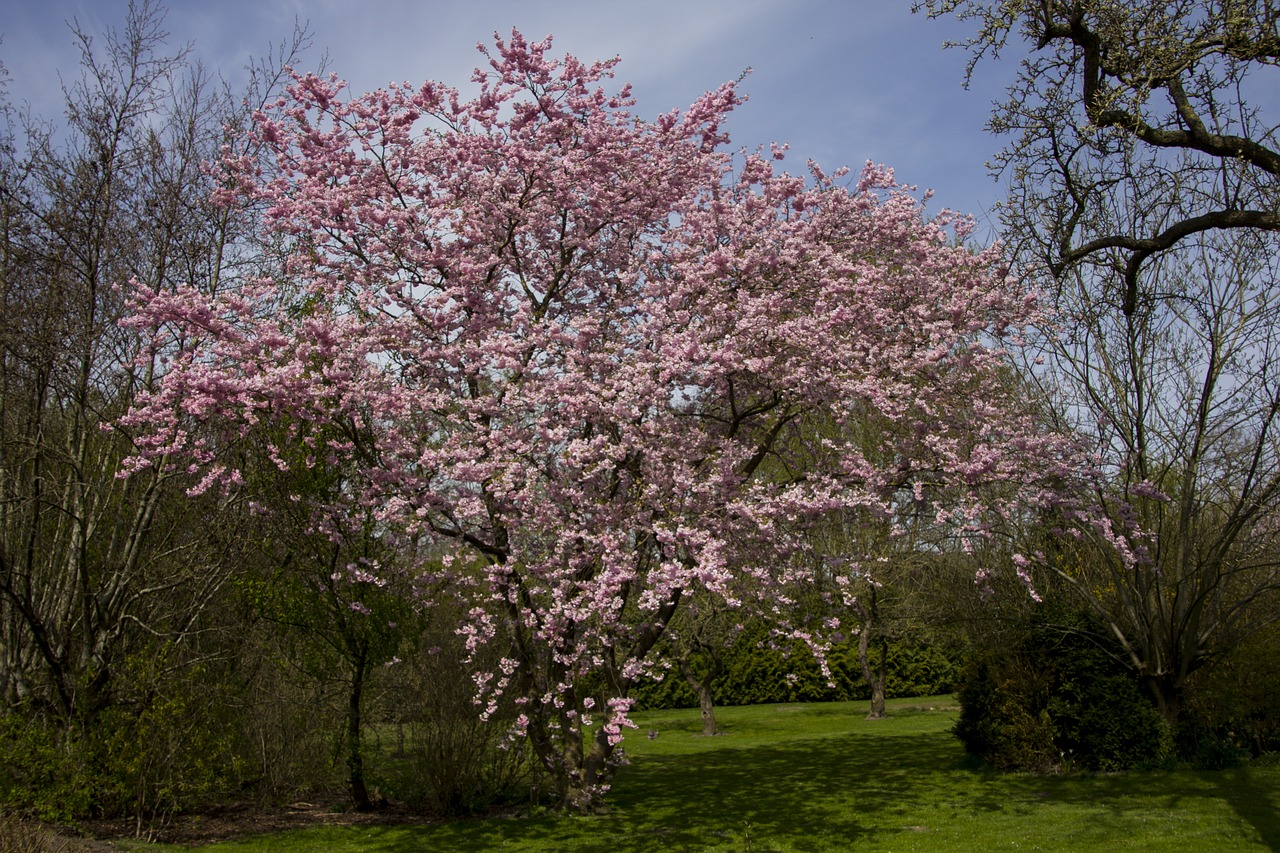
[[[266, 420], [317, 465], [356, 460], [349, 500], [443, 553], [461, 630], [504, 646], [481, 701], [515, 695], [589, 808], [687, 596], [785, 620], [788, 556], [832, 507], [927, 483], [940, 525], [975, 529], [1011, 508], [978, 484], [1038, 502], [1066, 462], [998, 375], [1036, 302], [957, 246], [965, 220], [884, 169], [735, 168], [732, 85], [648, 122], [603, 90], [612, 63], [548, 50], [498, 40], [472, 100], [297, 77], [256, 119], [269, 168], [225, 161], [291, 277], [141, 298], [168, 373], [123, 425], [147, 434], [136, 475], [195, 465], [209, 488], [236, 485], [228, 448]], [[895, 465], [838, 435], [787, 459], [806, 419], [855, 409], [895, 421]]]

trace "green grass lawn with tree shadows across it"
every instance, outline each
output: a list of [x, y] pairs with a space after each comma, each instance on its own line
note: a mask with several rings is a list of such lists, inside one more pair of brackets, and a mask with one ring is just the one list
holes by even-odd
[[[951, 736], [951, 699], [637, 715], [605, 815], [283, 833], [198, 848], [301, 850], [1266, 850], [1280, 849], [1280, 767], [1002, 775]], [[655, 739], [648, 731], [655, 730]], [[178, 849], [141, 847], [137, 849]], [[184, 848], [189, 849], [189, 848]]]

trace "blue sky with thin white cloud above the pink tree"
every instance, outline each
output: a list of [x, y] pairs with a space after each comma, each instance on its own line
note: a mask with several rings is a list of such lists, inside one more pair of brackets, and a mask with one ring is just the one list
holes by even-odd
[[[978, 67], [963, 86], [966, 54], [943, 50], [968, 35], [955, 20], [911, 14], [910, 0], [169, 0], [174, 46], [230, 82], [306, 24], [301, 70], [328, 68], [364, 92], [389, 82], [436, 79], [463, 87], [483, 64], [476, 44], [512, 28], [553, 36], [553, 53], [621, 56], [636, 111], [654, 117], [737, 79], [749, 101], [730, 123], [733, 147], [788, 143], [787, 168], [867, 160], [932, 190], [931, 209], [984, 216], [1001, 197], [986, 163], [1001, 141], [984, 129], [1012, 60]], [[47, 119], [61, 115], [60, 81], [77, 74], [68, 22], [90, 33], [119, 27], [127, 0], [0, 0], [0, 63], [8, 99]], [[102, 38], [97, 40], [102, 44]]]

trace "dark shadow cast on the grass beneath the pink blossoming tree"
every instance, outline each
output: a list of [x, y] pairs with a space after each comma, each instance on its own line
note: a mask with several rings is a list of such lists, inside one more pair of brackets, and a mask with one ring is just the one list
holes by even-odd
[[644, 756], [623, 767], [604, 815], [457, 821], [424, 827], [412, 840], [389, 830], [366, 836], [362, 849], [650, 853], [783, 847], [806, 853], [855, 848], [884, 834], [884, 813], [908, 812], [929, 797], [922, 789], [922, 774], [955, 768], [963, 761], [947, 734], [850, 734], [744, 747], [717, 742], [705, 752]]

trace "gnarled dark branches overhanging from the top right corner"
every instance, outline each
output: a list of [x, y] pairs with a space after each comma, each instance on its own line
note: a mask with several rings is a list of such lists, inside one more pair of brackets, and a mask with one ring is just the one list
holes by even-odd
[[1015, 31], [1033, 49], [989, 127], [1015, 137], [996, 160], [1006, 232], [1055, 274], [1105, 270], [1132, 314], [1148, 261], [1215, 232], [1280, 231], [1275, 0], [914, 8], [977, 19], [969, 74]]

